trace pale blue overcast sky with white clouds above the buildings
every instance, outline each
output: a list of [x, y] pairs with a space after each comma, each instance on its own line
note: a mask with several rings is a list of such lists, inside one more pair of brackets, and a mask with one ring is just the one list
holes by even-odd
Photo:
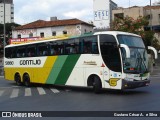
[[[99, 0], [100, 1], [100, 0]], [[119, 7], [146, 6], [150, 0], [113, 0]], [[156, 0], [152, 0], [152, 3]], [[78, 18], [93, 21], [93, 0], [14, 0], [15, 22], [26, 24], [39, 19]]]

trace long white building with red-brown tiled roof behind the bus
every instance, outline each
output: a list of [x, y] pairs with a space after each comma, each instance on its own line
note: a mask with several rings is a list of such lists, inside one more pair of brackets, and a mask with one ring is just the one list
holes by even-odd
[[12, 31], [12, 38], [51, 37], [60, 35], [81, 35], [93, 32], [93, 25], [79, 19], [58, 20], [52, 17], [51, 21], [37, 20], [32, 23], [16, 27]]

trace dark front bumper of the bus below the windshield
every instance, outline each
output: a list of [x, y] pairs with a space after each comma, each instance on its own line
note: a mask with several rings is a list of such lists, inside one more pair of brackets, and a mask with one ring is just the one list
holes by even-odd
[[122, 89], [134, 89], [138, 87], [145, 87], [150, 84], [150, 80], [142, 80], [142, 81], [127, 81], [122, 80]]

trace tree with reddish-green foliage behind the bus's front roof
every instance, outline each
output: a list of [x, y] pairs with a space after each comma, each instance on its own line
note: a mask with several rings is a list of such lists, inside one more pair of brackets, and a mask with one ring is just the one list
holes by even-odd
[[144, 26], [148, 26], [149, 21], [146, 17], [138, 17], [133, 19], [132, 17], [125, 17], [124, 19], [116, 18], [112, 22], [111, 30], [124, 31], [134, 34], [138, 34], [144, 40], [146, 46], [154, 46], [156, 49], [160, 49], [158, 40], [154, 37], [154, 32], [151, 30], [145, 31]]

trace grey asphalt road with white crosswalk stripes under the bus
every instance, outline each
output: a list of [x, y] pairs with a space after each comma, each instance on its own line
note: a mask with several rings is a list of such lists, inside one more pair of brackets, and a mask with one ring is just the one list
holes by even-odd
[[[86, 88], [47, 85], [18, 87], [14, 82], [0, 77], [0, 111], [160, 111], [160, 62], [154, 67], [151, 80], [148, 87], [123, 92], [105, 90], [101, 94], [94, 94]], [[81, 118], [91, 119], [93, 118]], [[94, 119], [106, 120], [98, 117]]]

